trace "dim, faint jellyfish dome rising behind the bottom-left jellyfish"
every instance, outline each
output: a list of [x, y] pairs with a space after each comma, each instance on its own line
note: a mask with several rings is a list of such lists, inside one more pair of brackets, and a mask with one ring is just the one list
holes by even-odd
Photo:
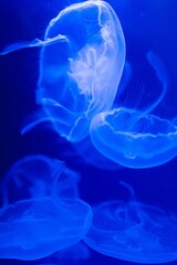
[[[51, 197], [79, 198], [80, 177], [64, 162], [43, 155], [27, 156], [15, 161], [4, 176], [8, 198], [7, 203], [22, 199]], [[15, 190], [15, 192], [11, 192]]]

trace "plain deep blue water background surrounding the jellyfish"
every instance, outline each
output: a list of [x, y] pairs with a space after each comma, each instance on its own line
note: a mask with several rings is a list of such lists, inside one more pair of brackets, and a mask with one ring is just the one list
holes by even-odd
[[[0, 0], [0, 50], [18, 40], [43, 39], [49, 21], [73, 2], [65, 0]], [[125, 34], [127, 60], [133, 65], [134, 86], [147, 78], [145, 54], [154, 51], [164, 62], [169, 78], [167, 96], [160, 106], [160, 115], [173, 118], [177, 113], [177, 1], [176, 0], [108, 0], [116, 11]], [[119, 180], [129, 183], [139, 201], [177, 213], [177, 158], [152, 169], [106, 171], [86, 165], [74, 155], [69, 142], [52, 131], [50, 125], [41, 125], [21, 136], [24, 118], [37, 109], [35, 87], [39, 76], [40, 49], [21, 50], [0, 57], [0, 176], [17, 160], [27, 155], [43, 153], [65, 160], [81, 173], [81, 198], [93, 204], [107, 199], [128, 198]], [[145, 68], [143, 72], [142, 68]], [[134, 72], [135, 71], [135, 72]], [[138, 73], [140, 76], [138, 76]], [[70, 153], [70, 156], [69, 156]], [[15, 191], [13, 191], [15, 192]], [[174, 239], [177, 241], [177, 239]], [[15, 264], [0, 261], [0, 264]], [[17, 264], [27, 264], [17, 262]], [[30, 264], [30, 263], [29, 263]], [[38, 261], [37, 264], [45, 264]], [[60, 263], [59, 263], [60, 264]], [[64, 263], [61, 263], [64, 264]], [[66, 262], [65, 264], [71, 264]], [[91, 251], [88, 261], [81, 264], [131, 264], [100, 255]], [[177, 264], [176, 262], [171, 264]]]

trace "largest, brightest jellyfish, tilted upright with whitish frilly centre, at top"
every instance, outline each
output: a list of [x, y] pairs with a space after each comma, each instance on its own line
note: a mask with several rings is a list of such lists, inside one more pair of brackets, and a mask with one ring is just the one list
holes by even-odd
[[92, 117], [114, 102], [125, 61], [121, 23], [104, 1], [71, 4], [51, 20], [44, 41], [15, 43], [1, 54], [42, 46], [37, 103], [46, 117], [23, 129], [51, 120], [55, 130], [76, 142], [88, 135]]

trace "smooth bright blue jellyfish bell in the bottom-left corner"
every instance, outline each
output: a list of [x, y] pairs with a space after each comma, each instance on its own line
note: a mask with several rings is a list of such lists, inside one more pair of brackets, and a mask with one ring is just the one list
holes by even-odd
[[74, 245], [91, 224], [80, 200], [22, 200], [0, 210], [0, 258], [32, 261]]

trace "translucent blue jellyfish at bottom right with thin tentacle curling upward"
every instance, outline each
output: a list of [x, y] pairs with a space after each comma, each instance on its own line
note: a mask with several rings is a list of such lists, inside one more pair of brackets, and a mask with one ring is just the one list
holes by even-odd
[[129, 202], [107, 201], [93, 209], [93, 223], [84, 242], [107, 256], [157, 264], [177, 259], [176, 239], [177, 216], [137, 202], [133, 195]]

